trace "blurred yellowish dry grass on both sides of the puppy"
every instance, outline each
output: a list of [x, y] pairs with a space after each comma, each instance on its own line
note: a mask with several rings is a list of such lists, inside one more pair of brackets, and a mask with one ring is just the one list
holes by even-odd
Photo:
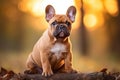
[[[16, 73], [23, 72], [26, 69], [25, 62], [29, 52], [23, 53], [1, 53], [0, 67], [13, 70]], [[119, 62], [119, 61], [118, 61]], [[74, 54], [73, 67], [80, 72], [100, 71], [102, 68], [108, 68], [110, 71], [120, 71], [120, 64], [107, 57], [81, 56]]]

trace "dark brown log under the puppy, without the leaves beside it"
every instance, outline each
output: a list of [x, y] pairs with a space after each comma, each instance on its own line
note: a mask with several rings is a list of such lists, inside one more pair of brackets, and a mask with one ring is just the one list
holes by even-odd
[[23, 80], [116, 80], [114, 76], [103, 72], [93, 73], [57, 73], [51, 77], [43, 77], [40, 74], [23, 74]]

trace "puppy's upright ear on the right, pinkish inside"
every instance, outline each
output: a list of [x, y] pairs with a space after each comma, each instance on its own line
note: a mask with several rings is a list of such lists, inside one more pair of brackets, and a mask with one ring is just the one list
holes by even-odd
[[74, 22], [75, 21], [75, 15], [76, 15], [76, 8], [74, 6], [70, 6], [67, 10], [66, 15], [69, 17], [69, 19]]

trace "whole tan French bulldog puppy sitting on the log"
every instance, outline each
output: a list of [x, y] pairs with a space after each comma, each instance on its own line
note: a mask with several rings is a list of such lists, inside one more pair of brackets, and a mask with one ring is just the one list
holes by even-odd
[[27, 59], [27, 67], [41, 68], [42, 75], [50, 76], [53, 72], [75, 72], [72, 69], [71, 43], [69, 35], [75, 20], [76, 8], [68, 8], [66, 15], [56, 15], [51, 5], [46, 7], [48, 29], [35, 44]]

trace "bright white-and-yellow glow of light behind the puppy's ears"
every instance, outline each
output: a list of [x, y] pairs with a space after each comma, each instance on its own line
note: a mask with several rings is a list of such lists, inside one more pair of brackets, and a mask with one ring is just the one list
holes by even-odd
[[[66, 4], [67, 3], [67, 4]], [[45, 7], [51, 4], [55, 7], [57, 14], [65, 14], [69, 6], [74, 5], [73, 0], [22, 0], [19, 8], [24, 12], [30, 12], [34, 16], [41, 16], [45, 12]]]

